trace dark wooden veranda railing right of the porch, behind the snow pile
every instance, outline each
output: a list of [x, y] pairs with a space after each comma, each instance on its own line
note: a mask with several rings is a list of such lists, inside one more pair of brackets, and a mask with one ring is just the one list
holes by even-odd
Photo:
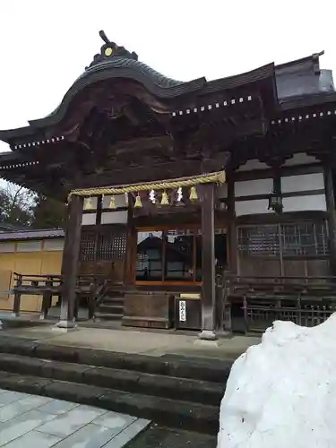
[[336, 277], [227, 276], [228, 303], [241, 303], [246, 332], [263, 332], [275, 320], [314, 326], [336, 311]]

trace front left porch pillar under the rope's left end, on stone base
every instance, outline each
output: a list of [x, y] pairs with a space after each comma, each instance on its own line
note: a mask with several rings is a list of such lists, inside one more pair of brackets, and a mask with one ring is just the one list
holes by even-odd
[[65, 248], [62, 262], [62, 274], [64, 277], [62, 284], [61, 317], [59, 323], [57, 323], [57, 326], [61, 328], [74, 326], [76, 282], [82, 230], [82, 204], [83, 198], [73, 195], [68, 206]]

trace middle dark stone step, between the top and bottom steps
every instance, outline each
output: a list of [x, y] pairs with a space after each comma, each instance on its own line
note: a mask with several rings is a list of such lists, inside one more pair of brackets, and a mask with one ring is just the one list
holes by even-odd
[[0, 370], [219, 406], [224, 386], [187, 378], [2, 354]]

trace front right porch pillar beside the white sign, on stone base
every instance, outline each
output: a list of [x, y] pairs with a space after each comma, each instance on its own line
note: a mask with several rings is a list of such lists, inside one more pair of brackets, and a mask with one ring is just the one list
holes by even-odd
[[202, 332], [200, 339], [215, 340], [215, 185], [202, 186]]

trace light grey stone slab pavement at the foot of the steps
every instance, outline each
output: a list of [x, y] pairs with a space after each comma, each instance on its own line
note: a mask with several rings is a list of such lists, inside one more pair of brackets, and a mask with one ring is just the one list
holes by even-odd
[[121, 448], [150, 421], [0, 389], [0, 447]]

